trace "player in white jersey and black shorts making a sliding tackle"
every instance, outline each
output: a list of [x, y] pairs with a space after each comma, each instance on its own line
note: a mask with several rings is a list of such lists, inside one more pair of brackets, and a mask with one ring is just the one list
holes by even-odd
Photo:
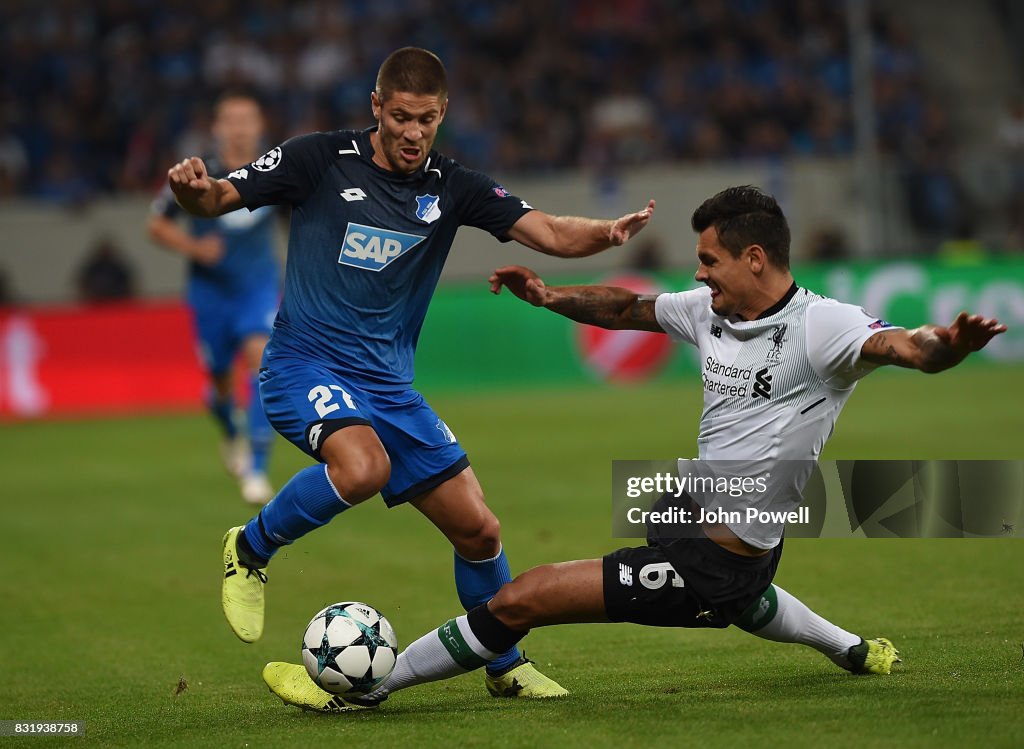
[[[790, 273], [785, 216], [757, 188], [730, 188], [710, 198], [691, 224], [698, 234], [694, 278], [705, 284], [700, 289], [645, 296], [602, 286], [548, 287], [521, 266], [499, 268], [490, 282], [495, 293], [506, 286], [581, 323], [665, 332], [696, 345], [705, 390], [701, 461], [813, 464], [868, 372], [886, 364], [939, 372], [1007, 329], [961, 313], [948, 327], [904, 330], [799, 288]], [[792, 476], [788, 499], [799, 501], [804, 478]], [[679, 501], [709, 508], [685, 494]], [[532, 627], [577, 622], [736, 624], [766, 639], [809, 644], [856, 673], [889, 673], [898, 662], [889, 640], [847, 632], [772, 584], [782, 551], [780, 524], [648, 529], [647, 546], [523, 573], [487, 604], [413, 642], [384, 683], [354, 704], [373, 706], [396, 690], [478, 668]], [[659, 576], [662, 585], [640, 584], [645, 568], [667, 564], [672, 574]], [[669, 579], [673, 584], [665, 584]], [[268, 664], [264, 679], [286, 703], [353, 709], [316, 688], [302, 666]]]

